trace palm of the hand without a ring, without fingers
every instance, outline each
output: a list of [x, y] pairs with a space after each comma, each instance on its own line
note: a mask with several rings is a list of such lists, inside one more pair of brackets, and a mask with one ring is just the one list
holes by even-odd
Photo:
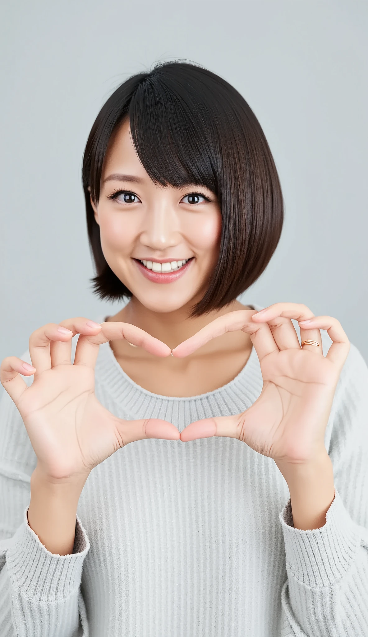
[[121, 446], [117, 418], [94, 394], [94, 369], [60, 365], [46, 369], [17, 405], [46, 475], [90, 471]]

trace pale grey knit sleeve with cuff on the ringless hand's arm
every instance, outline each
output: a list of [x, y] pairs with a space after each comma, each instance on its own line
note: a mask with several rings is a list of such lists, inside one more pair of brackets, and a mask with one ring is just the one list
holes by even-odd
[[[22, 360], [30, 361], [29, 354]], [[29, 385], [32, 378], [24, 378]], [[2, 388], [0, 388], [2, 389]], [[36, 454], [10, 396], [0, 400], [0, 634], [1, 637], [88, 637], [81, 592], [90, 548], [76, 516], [73, 553], [52, 554], [28, 524]]]

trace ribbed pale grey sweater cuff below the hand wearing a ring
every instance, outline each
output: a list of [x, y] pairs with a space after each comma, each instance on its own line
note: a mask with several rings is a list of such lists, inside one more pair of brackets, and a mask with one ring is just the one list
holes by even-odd
[[335, 497], [320, 529], [294, 529], [290, 498], [279, 515], [287, 568], [311, 588], [332, 586], [348, 571], [360, 545], [357, 525], [335, 487]]

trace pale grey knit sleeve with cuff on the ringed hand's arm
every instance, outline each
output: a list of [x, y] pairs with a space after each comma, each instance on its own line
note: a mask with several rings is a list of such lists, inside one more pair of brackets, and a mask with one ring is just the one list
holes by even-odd
[[281, 637], [368, 635], [368, 368], [351, 345], [336, 388], [329, 456], [335, 497], [320, 529], [280, 513], [287, 564]]

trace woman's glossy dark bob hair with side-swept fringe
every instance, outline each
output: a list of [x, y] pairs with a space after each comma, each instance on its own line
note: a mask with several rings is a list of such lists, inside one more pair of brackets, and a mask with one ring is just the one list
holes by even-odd
[[203, 185], [218, 197], [220, 254], [192, 316], [220, 309], [262, 274], [281, 235], [283, 196], [264, 132], [234, 87], [195, 64], [156, 64], [113, 92], [92, 126], [82, 169], [88, 238], [97, 271], [91, 282], [101, 299], [132, 296], [104, 258], [90, 203], [90, 194], [94, 202], [99, 200], [108, 143], [126, 115], [139, 160], [153, 182]]

